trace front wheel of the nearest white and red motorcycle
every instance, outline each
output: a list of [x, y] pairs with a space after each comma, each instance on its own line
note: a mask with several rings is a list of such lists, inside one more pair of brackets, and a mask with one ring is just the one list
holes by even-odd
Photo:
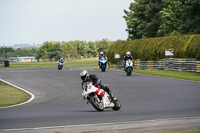
[[99, 99], [97, 99], [98, 96], [95, 94], [93, 96], [90, 97], [90, 103], [92, 104], [92, 106], [97, 110], [97, 111], [103, 111], [104, 107], [103, 107], [103, 103], [99, 102]]

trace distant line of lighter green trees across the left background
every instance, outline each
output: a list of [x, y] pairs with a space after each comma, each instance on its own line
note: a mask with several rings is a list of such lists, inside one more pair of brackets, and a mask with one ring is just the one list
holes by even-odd
[[69, 42], [44, 42], [39, 48], [12, 48], [1, 47], [1, 58], [35, 56], [37, 60], [58, 60], [62, 58], [80, 58], [81, 56], [96, 57], [99, 52], [106, 53], [108, 47], [112, 44], [108, 39], [102, 39], [95, 42], [87, 41], [69, 41]]

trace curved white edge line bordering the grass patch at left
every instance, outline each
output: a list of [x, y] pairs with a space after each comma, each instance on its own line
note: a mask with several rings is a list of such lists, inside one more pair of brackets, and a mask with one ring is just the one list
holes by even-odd
[[9, 83], [9, 82], [3, 80], [3, 79], [0, 79], [0, 81], [4, 82], [4, 83], [6, 83], [6, 84], [8, 84], [8, 85], [10, 85], [10, 86], [13, 86], [13, 87], [15, 87], [15, 88], [17, 88], [17, 89], [19, 89], [19, 90], [22, 90], [22, 91], [28, 93], [28, 94], [31, 96], [30, 99], [29, 99], [28, 101], [25, 101], [25, 102], [19, 103], [19, 104], [15, 104], [15, 105], [11, 105], [11, 106], [1, 107], [0, 109], [5, 109], [5, 108], [11, 108], [11, 107], [15, 107], [15, 106], [20, 106], [20, 105], [29, 103], [29, 102], [31, 102], [33, 99], [35, 99], [35, 95], [32, 94], [31, 92], [29, 92], [29, 91], [27, 91], [27, 90], [25, 90], [25, 89], [23, 89], [23, 88], [21, 88], [21, 87], [19, 87], [19, 86], [16, 86], [16, 85], [14, 85], [14, 84], [11, 84], [11, 83]]

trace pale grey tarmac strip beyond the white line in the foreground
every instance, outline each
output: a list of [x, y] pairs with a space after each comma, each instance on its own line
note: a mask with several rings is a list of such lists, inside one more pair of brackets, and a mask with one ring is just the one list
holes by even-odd
[[200, 130], [200, 117], [169, 118], [117, 123], [99, 123], [24, 129], [4, 129], [4, 133], [155, 133]]

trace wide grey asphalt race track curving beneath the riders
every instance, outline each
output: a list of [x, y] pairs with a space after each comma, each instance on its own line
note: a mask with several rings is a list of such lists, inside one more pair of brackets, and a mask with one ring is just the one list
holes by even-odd
[[200, 82], [108, 70], [89, 70], [109, 84], [122, 108], [97, 112], [81, 96], [81, 70], [64, 67], [2, 69], [0, 79], [35, 95], [30, 103], [0, 109], [0, 129], [129, 122], [200, 116]]

